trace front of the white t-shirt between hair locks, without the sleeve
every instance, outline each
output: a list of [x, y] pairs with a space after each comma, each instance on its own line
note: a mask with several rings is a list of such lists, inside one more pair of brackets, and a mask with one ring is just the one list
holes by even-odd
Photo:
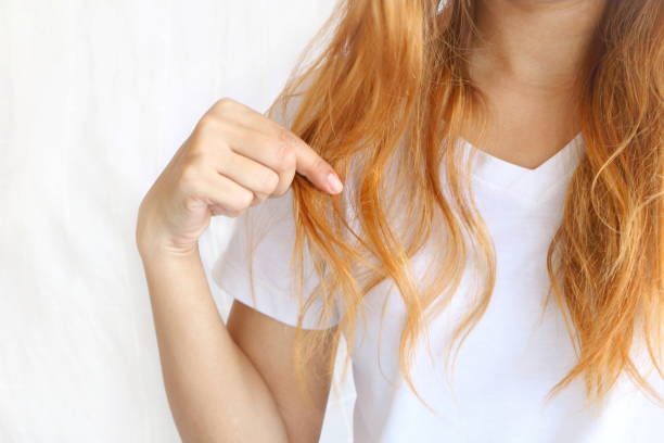
[[[534, 170], [481, 156], [473, 188], [495, 248], [495, 287], [450, 360], [455, 328], [475, 306], [484, 282], [471, 258], [451, 301], [414, 347], [409, 374], [420, 398], [400, 371], [406, 308], [397, 288], [385, 280], [366, 294], [365, 321], [350, 347], [355, 441], [603, 443], [653, 441], [660, 434], [652, 423], [661, 420], [661, 410], [629, 382], [621, 381], [597, 409], [585, 407], [579, 379], [548, 396], [576, 363], [559, 307], [546, 301], [547, 253], [560, 226], [566, 179], [582, 152], [577, 148], [570, 144]], [[416, 278], [434, 260], [429, 249], [413, 256]], [[639, 432], [648, 438], [630, 440]]]

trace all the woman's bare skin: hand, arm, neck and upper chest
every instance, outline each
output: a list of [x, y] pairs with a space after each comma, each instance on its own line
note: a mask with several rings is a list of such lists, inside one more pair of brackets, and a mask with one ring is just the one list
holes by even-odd
[[[571, 79], [603, 0], [484, 0], [471, 75], [499, 109], [488, 153], [533, 168], [573, 135]], [[472, 128], [467, 139], [473, 141]], [[332, 168], [294, 134], [221, 99], [145, 194], [136, 241], [148, 281], [164, 383], [178, 431], [192, 442], [317, 442], [331, 346], [308, 368], [312, 401], [291, 366], [294, 328], [233, 302], [227, 324], [212, 299], [197, 239], [214, 215], [237, 216], [282, 195], [294, 175], [335, 193]], [[192, 319], [195, 319], [192, 321]], [[306, 333], [320, 333], [306, 331]]]

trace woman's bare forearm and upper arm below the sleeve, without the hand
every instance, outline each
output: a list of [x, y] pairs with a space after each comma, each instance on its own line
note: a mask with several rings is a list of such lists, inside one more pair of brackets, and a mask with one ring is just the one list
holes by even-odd
[[[295, 384], [294, 328], [234, 302], [224, 325], [199, 255], [145, 256], [164, 383], [183, 442], [317, 442], [331, 346], [308, 366], [314, 404]], [[306, 333], [319, 333], [306, 331]], [[311, 407], [314, 406], [314, 407]]]

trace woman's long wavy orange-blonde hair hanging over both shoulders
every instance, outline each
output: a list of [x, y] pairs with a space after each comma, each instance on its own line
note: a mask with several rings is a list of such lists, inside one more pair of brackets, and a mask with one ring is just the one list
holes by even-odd
[[[336, 328], [304, 334], [297, 326], [294, 358], [301, 380], [307, 358], [322, 343], [345, 336], [353, 346], [363, 295], [391, 279], [406, 308], [399, 369], [423, 401], [409, 375], [414, 345], [458, 289], [471, 251], [481, 252], [485, 281], [456, 326], [457, 351], [488, 306], [495, 252], [472, 193], [465, 192], [467, 169], [454, 155], [467, 124], [477, 122], [482, 139], [487, 121], [484, 96], [468, 71], [476, 3], [342, 1], [268, 110], [296, 97], [291, 129], [346, 185], [342, 194], [329, 195], [301, 176], [293, 181], [292, 265], [302, 282], [306, 249], [320, 280], [304, 299], [303, 315], [317, 299], [323, 301], [322, 320], [340, 301], [343, 306]], [[630, 350], [642, 338], [662, 376], [663, 21], [660, 0], [608, 0], [578, 73], [574, 112], [585, 153], [546, 257], [547, 304], [556, 300], [577, 362], [550, 395], [580, 377], [587, 398], [601, 400], [626, 372], [661, 401]], [[323, 50], [305, 65], [323, 39]], [[390, 175], [395, 159], [398, 167]], [[451, 198], [443, 192], [442, 178]], [[395, 204], [405, 225], [391, 217]], [[440, 229], [446, 236], [442, 260], [432, 263], [435, 278], [419, 288], [409, 260]], [[330, 371], [333, 367], [331, 356]]]

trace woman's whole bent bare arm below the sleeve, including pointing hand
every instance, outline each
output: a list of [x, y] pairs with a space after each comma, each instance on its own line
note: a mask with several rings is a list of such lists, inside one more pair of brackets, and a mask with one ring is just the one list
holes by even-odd
[[[329, 181], [335, 177], [331, 166], [296, 135], [222, 99], [201, 118], [141, 202], [136, 240], [166, 392], [186, 443], [318, 439], [329, 382], [317, 388], [317, 407], [298, 406], [303, 402], [299, 391], [291, 389], [289, 366], [293, 331], [248, 307], [235, 307], [230, 333], [214, 304], [197, 246], [213, 215], [237, 216], [282, 195], [295, 173], [320, 190], [341, 191], [341, 182], [334, 187]], [[312, 370], [318, 366], [311, 365]]]

